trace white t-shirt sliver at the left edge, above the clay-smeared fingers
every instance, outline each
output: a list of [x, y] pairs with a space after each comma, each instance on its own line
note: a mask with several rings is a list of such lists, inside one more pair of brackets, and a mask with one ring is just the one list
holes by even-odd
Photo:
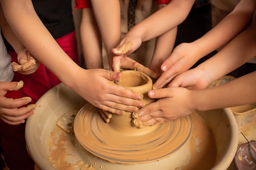
[[12, 81], [13, 75], [11, 56], [7, 53], [4, 40], [0, 34], [0, 81]]

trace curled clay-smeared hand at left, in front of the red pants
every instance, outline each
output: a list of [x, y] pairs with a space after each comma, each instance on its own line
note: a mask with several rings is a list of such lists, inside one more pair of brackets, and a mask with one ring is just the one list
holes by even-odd
[[40, 65], [40, 62], [27, 50], [21, 50], [18, 54], [18, 63], [11, 63], [13, 71], [21, 74], [32, 74]]

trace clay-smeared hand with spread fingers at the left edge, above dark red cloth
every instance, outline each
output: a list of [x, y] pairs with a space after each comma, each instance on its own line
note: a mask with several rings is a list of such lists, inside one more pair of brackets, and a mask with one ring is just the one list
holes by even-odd
[[[0, 118], [8, 124], [24, 123], [25, 119], [31, 116], [36, 109], [36, 105], [31, 104], [21, 107], [31, 102], [30, 97], [6, 98], [7, 91], [18, 90], [23, 86], [23, 82], [0, 82]], [[20, 108], [19, 108], [20, 107]]]

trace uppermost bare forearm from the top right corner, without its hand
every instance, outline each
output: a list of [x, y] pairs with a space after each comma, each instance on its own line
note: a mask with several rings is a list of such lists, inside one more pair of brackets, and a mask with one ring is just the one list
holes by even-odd
[[243, 31], [252, 21], [255, 9], [255, 0], [241, 0], [234, 11], [211, 31], [192, 43], [197, 49], [200, 49], [198, 50], [198, 57], [201, 58], [220, 48]]

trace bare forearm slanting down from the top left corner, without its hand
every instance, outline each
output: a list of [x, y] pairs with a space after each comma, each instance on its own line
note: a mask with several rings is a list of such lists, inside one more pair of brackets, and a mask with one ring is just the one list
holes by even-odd
[[76, 75], [79, 67], [47, 31], [36, 15], [31, 0], [1, 0], [0, 2], [13, 32], [24, 46], [64, 84], [68, 85], [70, 77]]

